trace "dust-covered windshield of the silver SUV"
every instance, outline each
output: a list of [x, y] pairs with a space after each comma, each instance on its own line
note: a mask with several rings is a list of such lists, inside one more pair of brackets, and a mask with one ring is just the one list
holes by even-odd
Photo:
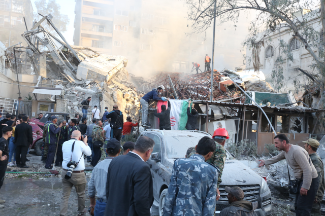
[[186, 151], [190, 147], [198, 145], [199, 140], [206, 136], [202, 133], [175, 134], [166, 136], [166, 153], [168, 159], [185, 158]]

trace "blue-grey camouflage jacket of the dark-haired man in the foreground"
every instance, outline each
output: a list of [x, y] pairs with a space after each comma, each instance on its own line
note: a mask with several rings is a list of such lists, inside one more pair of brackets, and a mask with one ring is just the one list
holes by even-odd
[[204, 160], [202, 155], [192, 155], [174, 162], [164, 216], [214, 215], [218, 169]]

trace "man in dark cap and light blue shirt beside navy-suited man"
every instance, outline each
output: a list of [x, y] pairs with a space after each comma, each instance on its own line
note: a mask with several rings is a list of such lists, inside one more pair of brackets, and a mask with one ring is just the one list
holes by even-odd
[[[113, 138], [107, 142], [107, 157], [105, 160], [98, 163], [92, 170], [91, 178], [88, 183], [88, 195], [90, 206], [94, 208], [94, 215], [104, 215], [106, 207], [106, 181], [107, 170], [113, 160], [120, 153], [120, 142]], [[95, 195], [97, 191], [97, 201]]]

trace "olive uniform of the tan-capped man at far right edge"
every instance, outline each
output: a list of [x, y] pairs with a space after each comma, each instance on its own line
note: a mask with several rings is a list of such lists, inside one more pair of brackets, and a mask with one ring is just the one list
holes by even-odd
[[311, 216], [320, 216], [320, 203], [323, 199], [324, 190], [325, 190], [325, 179], [324, 179], [324, 166], [323, 162], [321, 161], [320, 157], [317, 155], [317, 153], [313, 153], [309, 155], [315, 169], [317, 170], [318, 174], [318, 181], [319, 186], [316, 193], [316, 199], [317, 203], [313, 203], [313, 207], [311, 208], [310, 215]]

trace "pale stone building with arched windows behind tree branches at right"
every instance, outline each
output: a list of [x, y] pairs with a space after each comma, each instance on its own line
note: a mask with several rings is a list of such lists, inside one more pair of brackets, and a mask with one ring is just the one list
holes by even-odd
[[[319, 32], [319, 38], [317, 40], [319, 42], [322, 41], [323, 33], [319, 17], [310, 19], [309, 25]], [[264, 46], [261, 47], [261, 51], [259, 52], [259, 70], [264, 73], [266, 81], [269, 82], [272, 87], [276, 87], [277, 84], [272, 80], [272, 70], [274, 69], [276, 58], [279, 56], [280, 39], [288, 44], [294, 60], [290, 61], [284, 56], [284, 63], [281, 64], [283, 67], [283, 82], [285, 82], [285, 86], [280, 91], [286, 93], [288, 91], [295, 91], [294, 82], [296, 79], [298, 79], [301, 86], [308, 84], [310, 80], [307, 78], [307, 76], [303, 75], [298, 68], [301, 68], [307, 72], [313, 72], [310, 65], [315, 62], [313, 62], [313, 57], [305, 49], [305, 47], [293, 37], [294, 32], [283, 26], [284, 25], [281, 25], [281, 28], [280, 26], [277, 26], [277, 29], [280, 28], [280, 30], [277, 30], [271, 34], [269, 36], [270, 38], [264, 39]], [[312, 49], [316, 55], [319, 55], [319, 50], [317, 47], [312, 47]], [[252, 56], [252, 49], [247, 48], [246, 69], [254, 69]], [[302, 92], [300, 92], [299, 95], [301, 93]]]

